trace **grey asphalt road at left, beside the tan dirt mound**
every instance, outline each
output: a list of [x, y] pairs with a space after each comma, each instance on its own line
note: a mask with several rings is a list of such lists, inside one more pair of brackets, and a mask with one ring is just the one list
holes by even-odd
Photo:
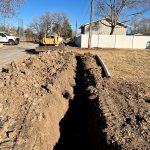
[[26, 50], [35, 49], [36, 46], [32, 43], [21, 43], [17, 46], [5, 45], [0, 48], [0, 68], [13, 60], [26, 56], [28, 54]]

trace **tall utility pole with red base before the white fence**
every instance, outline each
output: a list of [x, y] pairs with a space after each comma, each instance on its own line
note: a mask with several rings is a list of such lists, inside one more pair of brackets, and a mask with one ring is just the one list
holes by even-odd
[[91, 0], [91, 12], [90, 12], [90, 26], [89, 26], [88, 48], [91, 48], [93, 8], [94, 8], [94, 0]]

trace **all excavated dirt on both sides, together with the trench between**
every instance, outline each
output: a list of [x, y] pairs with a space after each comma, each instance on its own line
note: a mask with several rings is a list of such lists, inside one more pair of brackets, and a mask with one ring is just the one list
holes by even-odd
[[0, 149], [149, 150], [149, 89], [91, 54], [46, 52], [0, 73]]

